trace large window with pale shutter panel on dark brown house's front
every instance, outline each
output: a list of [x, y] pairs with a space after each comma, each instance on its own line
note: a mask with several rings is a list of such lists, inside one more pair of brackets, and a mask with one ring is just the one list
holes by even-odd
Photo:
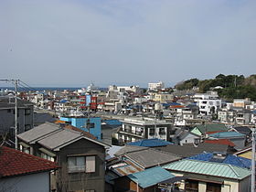
[[95, 156], [72, 156], [68, 157], [69, 173], [72, 172], [95, 172]]

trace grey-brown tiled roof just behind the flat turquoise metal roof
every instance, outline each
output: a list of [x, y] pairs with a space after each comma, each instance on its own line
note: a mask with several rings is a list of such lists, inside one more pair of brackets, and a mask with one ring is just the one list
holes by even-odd
[[152, 167], [155, 165], [165, 165], [167, 163], [181, 159], [181, 157], [178, 155], [172, 155], [155, 149], [136, 151], [126, 154], [125, 156], [133, 160], [133, 162], [136, 162], [138, 165], [143, 166], [144, 168]]

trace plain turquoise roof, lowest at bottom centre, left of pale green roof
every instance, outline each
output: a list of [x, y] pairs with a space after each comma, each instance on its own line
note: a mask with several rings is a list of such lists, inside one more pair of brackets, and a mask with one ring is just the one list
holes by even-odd
[[155, 166], [153, 168], [146, 169], [145, 171], [128, 175], [128, 177], [135, 183], [138, 183], [140, 187], [146, 188], [155, 186], [156, 184], [175, 176], [164, 168]]

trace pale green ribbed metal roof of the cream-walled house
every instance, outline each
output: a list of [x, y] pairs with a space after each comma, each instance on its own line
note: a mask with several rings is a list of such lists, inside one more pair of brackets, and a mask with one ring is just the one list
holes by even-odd
[[251, 171], [235, 165], [204, 162], [191, 159], [183, 159], [181, 161], [163, 166], [173, 171], [181, 171], [208, 176], [221, 176], [234, 179], [243, 179], [251, 175]]

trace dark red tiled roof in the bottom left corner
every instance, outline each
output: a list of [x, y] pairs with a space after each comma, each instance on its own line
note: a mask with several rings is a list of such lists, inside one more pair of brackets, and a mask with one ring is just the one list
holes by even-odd
[[9, 147], [0, 147], [0, 177], [46, 172], [58, 167], [56, 163], [46, 159], [28, 155]]

